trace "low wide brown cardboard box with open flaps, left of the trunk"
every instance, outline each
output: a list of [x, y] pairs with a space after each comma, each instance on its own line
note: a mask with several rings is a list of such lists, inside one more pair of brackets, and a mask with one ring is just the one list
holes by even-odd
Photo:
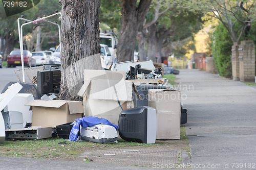
[[83, 113], [82, 102], [61, 100], [32, 100], [32, 126], [56, 127], [74, 122]]

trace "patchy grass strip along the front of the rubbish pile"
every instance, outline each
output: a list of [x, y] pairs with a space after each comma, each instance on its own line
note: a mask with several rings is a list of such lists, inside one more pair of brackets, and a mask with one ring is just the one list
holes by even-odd
[[36, 159], [74, 160], [84, 151], [126, 149], [131, 147], [156, 147], [163, 143], [146, 144], [118, 139], [117, 143], [94, 143], [90, 141], [67, 141], [59, 138], [39, 140], [7, 140], [0, 144], [2, 156], [16, 156]]

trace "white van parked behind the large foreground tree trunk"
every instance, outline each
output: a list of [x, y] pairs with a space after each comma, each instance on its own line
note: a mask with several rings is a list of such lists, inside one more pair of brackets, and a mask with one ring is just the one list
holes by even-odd
[[112, 58], [116, 57], [117, 39], [112, 33], [100, 33], [99, 43], [108, 45]]

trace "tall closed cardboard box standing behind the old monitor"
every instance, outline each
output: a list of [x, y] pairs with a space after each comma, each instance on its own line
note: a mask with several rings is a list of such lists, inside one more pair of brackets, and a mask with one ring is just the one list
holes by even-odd
[[180, 139], [180, 91], [149, 89], [148, 106], [157, 112], [157, 139]]

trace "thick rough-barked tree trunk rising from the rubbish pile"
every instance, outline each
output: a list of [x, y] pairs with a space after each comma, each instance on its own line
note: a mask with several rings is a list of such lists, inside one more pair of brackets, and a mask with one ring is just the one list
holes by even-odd
[[95, 0], [59, 0], [61, 5], [61, 87], [58, 99], [80, 100], [84, 69], [101, 69], [99, 5]]

